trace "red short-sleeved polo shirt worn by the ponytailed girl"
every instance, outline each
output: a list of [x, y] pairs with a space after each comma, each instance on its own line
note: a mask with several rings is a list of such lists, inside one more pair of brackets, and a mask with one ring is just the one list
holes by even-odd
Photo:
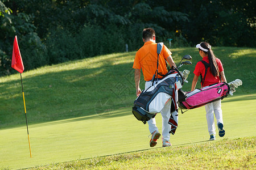
[[[208, 56], [203, 58], [204, 61], [206, 61], [207, 63], [209, 63], [209, 59]], [[216, 62], [217, 62], [217, 66], [218, 66], [218, 71], [224, 71], [222, 63], [220, 61], [220, 59], [216, 58]], [[195, 70], [193, 72], [195, 75], [200, 76], [200, 74], [202, 74], [203, 78], [204, 78], [204, 74], [205, 74], [205, 66], [202, 62], [197, 62], [196, 63], [196, 67]], [[207, 69], [207, 75], [205, 76], [205, 80], [204, 80], [204, 87], [205, 86], [209, 86], [210, 84], [214, 84], [214, 83], [220, 83], [220, 77], [219, 76], [214, 76], [211, 72], [210, 72], [210, 67], [208, 67]], [[201, 84], [202, 85], [202, 84]]]

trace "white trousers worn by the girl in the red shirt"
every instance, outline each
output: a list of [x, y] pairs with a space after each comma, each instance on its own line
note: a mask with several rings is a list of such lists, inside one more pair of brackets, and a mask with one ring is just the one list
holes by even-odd
[[215, 124], [214, 124], [214, 114], [217, 121], [217, 124], [221, 122], [223, 124], [222, 120], [222, 110], [221, 110], [221, 100], [214, 101], [213, 103], [209, 103], [205, 105], [205, 111], [207, 112], [206, 118], [207, 118], [207, 125], [208, 125], [208, 131], [209, 134], [216, 134], [215, 132]]

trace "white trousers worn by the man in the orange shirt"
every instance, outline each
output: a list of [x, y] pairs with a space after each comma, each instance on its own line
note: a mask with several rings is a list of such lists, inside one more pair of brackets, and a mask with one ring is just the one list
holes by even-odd
[[[148, 81], [145, 83], [145, 90], [151, 86], [151, 81]], [[161, 111], [162, 115], [162, 140], [163, 141], [169, 141], [170, 140], [170, 133], [171, 125], [168, 124], [168, 121], [171, 116], [171, 102], [172, 100], [169, 100], [164, 108]], [[148, 129], [150, 133], [153, 133], [155, 130], [158, 131], [158, 127], [156, 126], [155, 118], [151, 118], [149, 121], [147, 121]]]

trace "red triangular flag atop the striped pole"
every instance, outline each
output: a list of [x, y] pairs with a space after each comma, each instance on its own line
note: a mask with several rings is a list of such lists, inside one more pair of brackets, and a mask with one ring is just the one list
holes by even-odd
[[11, 59], [11, 67], [13, 67], [15, 70], [19, 71], [19, 73], [23, 73], [23, 71], [24, 71], [21, 54], [19, 52], [17, 36], [15, 36], [15, 39], [13, 42], [13, 58]]

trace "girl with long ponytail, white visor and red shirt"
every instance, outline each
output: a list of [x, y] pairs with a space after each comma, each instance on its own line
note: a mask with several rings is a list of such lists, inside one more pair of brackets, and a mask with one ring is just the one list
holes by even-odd
[[[191, 91], [195, 90], [197, 80], [201, 75], [201, 87], [209, 86], [210, 84], [226, 82], [224, 69], [220, 59], [216, 58], [213, 54], [211, 46], [208, 42], [201, 42], [196, 45], [199, 49], [199, 54], [203, 58], [202, 61], [197, 62], [194, 70], [194, 78], [192, 82]], [[206, 62], [206, 63], [205, 63]], [[207, 71], [205, 71], [208, 66]], [[206, 74], [205, 74], [206, 73]], [[221, 79], [220, 79], [221, 78]], [[207, 112], [207, 125], [210, 134], [210, 141], [215, 140], [215, 125], [214, 125], [214, 114], [218, 123], [218, 135], [224, 137], [225, 130], [223, 128], [221, 100], [214, 101], [205, 105], [205, 111]], [[214, 114], [213, 114], [214, 113]]]

